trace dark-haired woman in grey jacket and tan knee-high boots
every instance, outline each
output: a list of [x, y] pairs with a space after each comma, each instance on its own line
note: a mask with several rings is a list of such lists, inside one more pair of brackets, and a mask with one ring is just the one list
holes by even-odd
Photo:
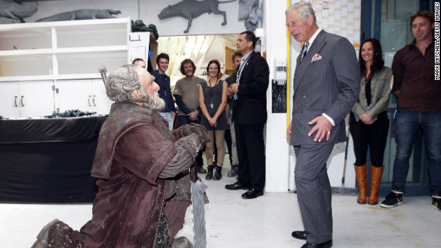
[[[384, 67], [382, 50], [377, 39], [362, 43], [360, 54], [360, 97], [351, 110], [350, 132], [356, 155], [356, 177], [358, 182], [357, 203], [378, 204], [378, 188], [384, 169], [383, 158], [386, 147], [389, 119], [387, 105], [391, 95], [392, 70]], [[371, 189], [367, 198], [367, 147], [371, 154]]]

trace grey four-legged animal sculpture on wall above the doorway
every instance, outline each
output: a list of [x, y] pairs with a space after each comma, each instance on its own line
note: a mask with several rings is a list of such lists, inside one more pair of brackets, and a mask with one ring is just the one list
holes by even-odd
[[[236, 1], [236, 0], [232, 0]], [[219, 3], [229, 3], [232, 1], [217, 1], [217, 0], [205, 0], [205, 1], [196, 1], [196, 0], [183, 0], [179, 3], [176, 3], [173, 6], [168, 6], [164, 8], [160, 14], [158, 14], [158, 18], [163, 20], [170, 17], [183, 17], [188, 20], [187, 29], [184, 30], [184, 33], [187, 33], [192, 26], [192, 21], [194, 18], [199, 17], [204, 13], [214, 13], [214, 14], [222, 14], [223, 15], [223, 23], [221, 25], [227, 25], [227, 13], [225, 11], [221, 11], [218, 9]]]

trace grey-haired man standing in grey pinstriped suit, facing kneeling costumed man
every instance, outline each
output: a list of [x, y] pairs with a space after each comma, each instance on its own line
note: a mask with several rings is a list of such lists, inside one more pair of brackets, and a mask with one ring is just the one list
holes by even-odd
[[303, 48], [294, 74], [292, 121], [287, 134], [296, 153], [296, 189], [305, 231], [302, 248], [332, 247], [331, 185], [326, 162], [345, 141], [345, 117], [358, 99], [360, 66], [353, 45], [318, 27], [311, 3], [286, 12], [289, 33]]

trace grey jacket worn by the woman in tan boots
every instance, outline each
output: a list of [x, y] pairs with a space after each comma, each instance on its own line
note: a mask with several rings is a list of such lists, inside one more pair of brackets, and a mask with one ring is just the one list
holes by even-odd
[[360, 120], [362, 114], [367, 113], [374, 121], [384, 110], [387, 110], [389, 97], [391, 96], [392, 70], [384, 67], [379, 72], [373, 73], [371, 77], [371, 104], [367, 106], [366, 99], [366, 75], [363, 73], [360, 82], [360, 96], [352, 107], [353, 116], [356, 121]]

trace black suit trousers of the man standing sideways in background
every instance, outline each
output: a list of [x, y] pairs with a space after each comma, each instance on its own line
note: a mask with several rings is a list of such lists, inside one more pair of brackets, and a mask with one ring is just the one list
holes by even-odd
[[238, 182], [263, 192], [265, 187], [264, 124], [240, 125], [234, 123], [239, 160]]

